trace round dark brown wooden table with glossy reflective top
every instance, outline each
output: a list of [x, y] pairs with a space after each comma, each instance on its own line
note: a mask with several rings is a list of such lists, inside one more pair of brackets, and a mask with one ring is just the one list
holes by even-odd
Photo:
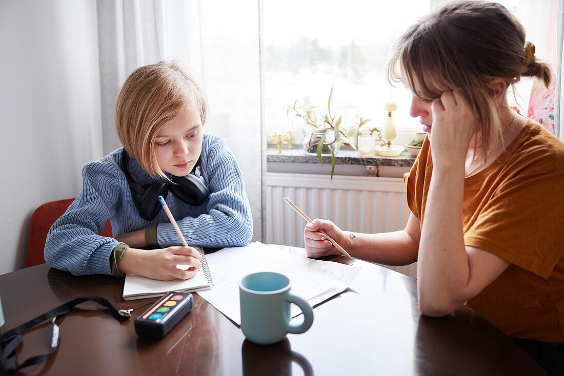
[[[335, 256], [336, 259], [344, 259]], [[160, 341], [139, 338], [133, 319], [118, 322], [96, 303], [83, 303], [57, 322], [59, 349], [20, 374], [52, 375], [542, 375], [536, 363], [468, 307], [434, 319], [417, 307], [416, 281], [374, 264], [350, 289], [314, 308], [304, 334], [258, 346], [195, 294], [190, 313]], [[0, 276], [6, 331], [68, 300], [100, 295], [118, 308], [124, 278], [75, 277], [46, 264]], [[133, 312], [133, 318], [146, 308]], [[301, 320], [297, 317], [294, 320]], [[51, 325], [24, 335], [19, 360], [44, 353]]]

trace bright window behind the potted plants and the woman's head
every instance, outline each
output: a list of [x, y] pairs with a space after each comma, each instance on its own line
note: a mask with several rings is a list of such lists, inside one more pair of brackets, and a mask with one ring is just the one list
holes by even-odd
[[[545, 59], [556, 54], [556, 33], [548, 33], [549, 28], [556, 29], [556, 2], [500, 1], [521, 20], [527, 40], [535, 43], [537, 56]], [[362, 116], [372, 119], [371, 127], [382, 129], [384, 103], [391, 100], [398, 103], [394, 112], [398, 134], [420, 129], [418, 119], [409, 116], [411, 93], [401, 83], [391, 88], [386, 64], [395, 40], [430, 6], [431, 1], [422, 0], [264, 1], [267, 132], [302, 128], [284, 109], [296, 99], [298, 104], [318, 106], [316, 113], [324, 116], [332, 85], [332, 114], [342, 114], [343, 126], [351, 126], [356, 116]], [[553, 6], [554, 25], [550, 26]], [[518, 84], [517, 105], [522, 113], [527, 112], [531, 86], [531, 80]], [[515, 105], [509, 97], [510, 105]]]

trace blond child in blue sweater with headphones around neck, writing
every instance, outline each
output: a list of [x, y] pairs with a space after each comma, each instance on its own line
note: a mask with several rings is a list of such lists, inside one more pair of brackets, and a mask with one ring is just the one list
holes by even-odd
[[[199, 85], [178, 63], [135, 69], [116, 105], [123, 147], [84, 167], [80, 193], [47, 235], [46, 262], [74, 275], [193, 277], [201, 256], [178, 246], [159, 195], [188, 244], [248, 244], [253, 221], [243, 178], [226, 143], [204, 134], [206, 108]], [[107, 219], [114, 238], [99, 236]]]

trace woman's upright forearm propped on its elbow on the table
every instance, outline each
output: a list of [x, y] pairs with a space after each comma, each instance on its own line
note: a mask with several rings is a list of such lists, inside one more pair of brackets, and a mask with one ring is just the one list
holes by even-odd
[[433, 170], [417, 259], [417, 290], [421, 312], [444, 316], [459, 304], [470, 269], [462, 231], [464, 169]]

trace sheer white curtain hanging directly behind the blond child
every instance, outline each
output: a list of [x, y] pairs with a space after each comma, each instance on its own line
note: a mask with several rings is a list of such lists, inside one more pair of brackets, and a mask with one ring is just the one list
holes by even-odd
[[182, 60], [209, 103], [204, 131], [226, 140], [249, 197], [253, 240], [262, 240], [258, 2], [98, 0], [104, 154], [120, 147], [116, 98], [127, 74], [162, 59]]

